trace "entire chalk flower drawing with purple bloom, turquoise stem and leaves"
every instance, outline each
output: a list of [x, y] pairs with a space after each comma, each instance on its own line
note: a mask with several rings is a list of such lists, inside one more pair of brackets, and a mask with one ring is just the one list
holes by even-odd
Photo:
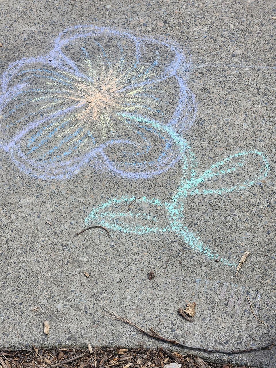
[[[136, 180], [178, 163], [167, 201], [133, 195], [103, 202], [85, 223], [137, 235], [173, 231], [217, 257], [185, 223], [194, 196], [245, 190], [268, 175], [263, 152], [233, 152], [203, 169], [184, 133], [197, 104], [187, 86], [191, 61], [177, 44], [79, 25], [61, 32], [46, 56], [16, 61], [2, 77], [0, 148], [33, 178], [68, 179], [85, 166]], [[225, 265], [235, 261], [220, 258]]]

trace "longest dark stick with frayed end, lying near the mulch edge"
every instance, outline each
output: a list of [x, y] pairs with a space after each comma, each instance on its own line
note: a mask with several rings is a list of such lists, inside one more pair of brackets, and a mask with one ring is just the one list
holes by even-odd
[[269, 348], [270, 346], [273, 346], [273, 344], [274, 344], [274, 343], [269, 343], [269, 344], [266, 344], [265, 346], [260, 346], [260, 347], [250, 348], [250, 349], [243, 349], [243, 350], [232, 350], [232, 351], [216, 350], [216, 349], [209, 349], [209, 348], [197, 347], [197, 346], [189, 346], [189, 345], [184, 345], [184, 344], [182, 344], [182, 343], [180, 343], [176, 340], [166, 339], [166, 337], [160, 336], [151, 327], [148, 327], [147, 330], [144, 330], [141, 327], [139, 327], [139, 326], [135, 325], [134, 323], [132, 323], [127, 318], [120, 317], [120, 316], [118, 316], [118, 315], [116, 315], [112, 312], [108, 312], [108, 311], [106, 311], [106, 313], [110, 318], [115, 319], [115, 320], [120, 321], [120, 322], [123, 322], [123, 323], [126, 323], [127, 325], [131, 325], [132, 327], [136, 328], [138, 331], [144, 333], [145, 335], [147, 335], [149, 337], [153, 337], [153, 339], [164, 341], [164, 342], [174, 344], [174, 345], [178, 345], [180, 347], [183, 347], [183, 348], [189, 349], [189, 350], [200, 350], [200, 351], [205, 351], [207, 353], [219, 353], [219, 354], [233, 355], [233, 354], [250, 353], [251, 351], [257, 351], [257, 350], [265, 350], [265, 349]]

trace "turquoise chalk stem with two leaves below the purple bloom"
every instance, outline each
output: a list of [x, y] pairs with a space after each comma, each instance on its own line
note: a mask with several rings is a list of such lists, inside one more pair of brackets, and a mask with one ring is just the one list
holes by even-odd
[[[162, 202], [159, 198], [139, 198], [137, 206], [144, 208], [144, 211], [140, 212], [135, 209], [128, 210], [128, 204], [134, 201], [135, 197], [123, 195], [120, 198], [112, 198], [94, 208], [86, 217], [85, 223], [137, 235], [173, 231], [192, 249], [209, 259], [217, 258], [219, 255], [215, 250], [207, 247], [185, 224], [185, 202], [193, 196], [222, 195], [245, 190], [259, 183], [270, 170], [265, 155], [255, 150], [234, 153], [202, 171], [191, 147], [171, 127], [142, 117], [128, 115], [128, 118], [143, 122], [161, 132], [166, 131], [178, 147], [183, 173], [177, 192], [167, 202]], [[221, 258], [220, 262], [227, 266], [236, 266], [231, 259]]]

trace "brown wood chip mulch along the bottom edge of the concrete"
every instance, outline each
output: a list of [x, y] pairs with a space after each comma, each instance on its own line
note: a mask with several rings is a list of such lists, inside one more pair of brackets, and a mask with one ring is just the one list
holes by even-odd
[[[181, 368], [231, 368], [233, 365], [205, 362], [191, 355], [181, 355], [163, 348], [92, 348], [88, 349], [39, 349], [0, 351], [1, 368], [166, 368], [172, 362]], [[248, 368], [248, 367], [240, 367]]]

